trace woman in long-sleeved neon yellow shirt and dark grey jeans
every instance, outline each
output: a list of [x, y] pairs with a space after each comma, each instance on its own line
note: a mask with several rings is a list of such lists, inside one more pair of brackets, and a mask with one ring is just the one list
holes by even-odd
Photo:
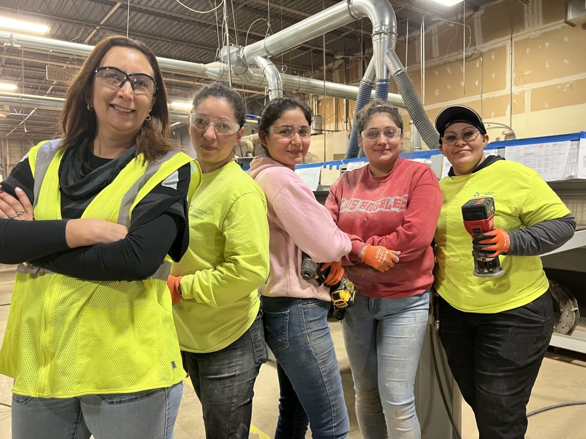
[[173, 317], [206, 437], [247, 438], [254, 381], [267, 361], [257, 288], [268, 275], [267, 203], [232, 160], [244, 99], [215, 82], [193, 97], [189, 136], [202, 184], [189, 204], [189, 249], [173, 264]]

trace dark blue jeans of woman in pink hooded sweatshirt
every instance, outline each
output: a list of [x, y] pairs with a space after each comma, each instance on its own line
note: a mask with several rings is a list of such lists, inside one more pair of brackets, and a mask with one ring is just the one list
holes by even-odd
[[281, 397], [275, 439], [347, 438], [350, 430], [338, 359], [328, 327], [330, 303], [263, 297], [265, 337], [277, 359]]

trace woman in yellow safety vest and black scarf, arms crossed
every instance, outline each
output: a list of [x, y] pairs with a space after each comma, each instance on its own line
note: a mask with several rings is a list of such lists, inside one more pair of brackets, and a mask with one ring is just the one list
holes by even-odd
[[200, 174], [168, 137], [154, 53], [98, 43], [61, 124], [1, 183], [0, 261], [19, 264], [0, 352], [12, 437], [172, 438], [185, 371], [166, 281]]

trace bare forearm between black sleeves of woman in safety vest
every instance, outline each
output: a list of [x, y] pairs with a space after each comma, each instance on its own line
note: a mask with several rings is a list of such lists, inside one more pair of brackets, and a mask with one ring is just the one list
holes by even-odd
[[98, 218], [79, 218], [67, 221], [65, 238], [69, 248], [94, 244], [108, 244], [126, 238], [128, 228]]

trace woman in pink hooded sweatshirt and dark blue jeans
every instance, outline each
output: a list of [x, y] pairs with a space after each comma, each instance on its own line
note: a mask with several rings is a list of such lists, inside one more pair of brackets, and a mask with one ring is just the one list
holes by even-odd
[[[328, 327], [329, 285], [342, 279], [337, 261], [350, 251], [350, 240], [295, 173], [309, 149], [309, 125], [311, 110], [302, 102], [269, 102], [258, 122], [266, 156], [248, 171], [267, 197], [271, 232], [271, 270], [260, 292], [280, 386], [275, 439], [304, 438], [308, 425], [314, 438], [346, 438], [350, 428]], [[301, 277], [302, 252], [329, 268], [325, 285]]]

